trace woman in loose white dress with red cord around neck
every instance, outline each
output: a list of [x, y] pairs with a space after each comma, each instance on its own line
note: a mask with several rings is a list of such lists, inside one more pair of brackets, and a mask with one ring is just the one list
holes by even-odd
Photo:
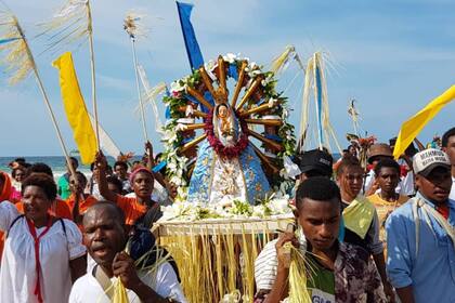
[[0, 203], [6, 234], [0, 272], [0, 302], [68, 302], [73, 282], [86, 272], [86, 248], [75, 223], [49, 214], [55, 182], [34, 173], [22, 185], [24, 213]]

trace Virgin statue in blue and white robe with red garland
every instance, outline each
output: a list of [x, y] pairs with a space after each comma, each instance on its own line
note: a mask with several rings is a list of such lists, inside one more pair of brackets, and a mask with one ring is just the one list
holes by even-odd
[[198, 150], [188, 201], [224, 205], [235, 199], [249, 203], [263, 199], [270, 185], [249, 146], [247, 127], [240, 126], [226, 103], [216, 105], [207, 119], [212, 128], [206, 128], [208, 136]]

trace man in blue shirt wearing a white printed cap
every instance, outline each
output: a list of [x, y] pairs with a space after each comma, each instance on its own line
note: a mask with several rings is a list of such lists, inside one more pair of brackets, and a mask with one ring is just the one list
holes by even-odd
[[418, 193], [386, 223], [387, 273], [401, 302], [455, 302], [455, 201], [447, 155], [415, 155]]

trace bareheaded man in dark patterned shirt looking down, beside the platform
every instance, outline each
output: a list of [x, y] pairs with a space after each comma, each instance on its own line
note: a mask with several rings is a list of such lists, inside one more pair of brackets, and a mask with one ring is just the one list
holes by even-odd
[[[275, 251], [256, 262], [255, 271], [277, 260], [277, 271], [256, 275], [258, 293], [255, 302], [281, 302], [289, 294], [289, 268], [284, 245], [300, 248], [312, 269], [307, 271], [307, 286], [313, 302], [387, 302], [381, 278], [369, 253], [358, 246], [339, 242], [341, 195], [327, 177], [315, 176], [299, 185], [296, 195], [296, 219], [300, 239], [284, 233], [272, 241]], [[270, 243], [268, 245], [270, 247]], [[335, 300], [336, 299], [336, 300]], [[317, 300], [317, 301], [315, 301]]]

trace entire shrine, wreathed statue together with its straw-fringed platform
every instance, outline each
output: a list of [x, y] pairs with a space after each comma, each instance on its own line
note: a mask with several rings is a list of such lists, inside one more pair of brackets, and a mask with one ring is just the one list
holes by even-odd
[[[220, 55], [171, 84], [161, 158], [177, 201], [154, 233], [190, 302], [252, 302], [253, 264], [294, 221], [294, 127], [272, 71]], [[273, 194], [272, 194], [273, 193]]]

